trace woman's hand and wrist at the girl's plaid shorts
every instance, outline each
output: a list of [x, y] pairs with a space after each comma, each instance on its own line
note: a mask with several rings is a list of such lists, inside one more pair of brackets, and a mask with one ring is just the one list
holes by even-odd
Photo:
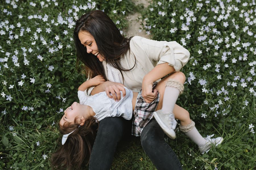
[[157, 98], [157, 89], [153, 91], [153, 82], [146, 81], [143, 79], [142, 81], [142, 97], [145, 102], [150, 103]]

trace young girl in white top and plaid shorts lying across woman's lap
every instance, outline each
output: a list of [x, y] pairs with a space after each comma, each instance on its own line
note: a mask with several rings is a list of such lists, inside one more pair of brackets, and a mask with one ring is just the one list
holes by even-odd
[[[154, 93], [157, 93], [157, 96], [151, 103], [145, 102], [141, 95], [142, 90], [136, 93], [126, 87], [124, 87], [124, 91], [120, 91], [121, 99], [119, 101], [109, 98], [103, 88], [102, 92], [88, 96], [84, 92], [85, 89], [92, 85], [108, 83], [108, 81], [105, 82], [102, 76], [96, 76], [85, 81], [78, 89], [80, 104], [74, 102], [68, 107], [59, 122], [60, 133], [64, 134], [62, 138], [63, 146], [52, 155], [52, 165], [64, 165], [64, 167], [67, 166], [69, 169], [71, 167], [80, 169], [83, 162], [88, 163], [97, 125], [99, 121], [106, 117], [121, 116], [128, 120], [133, 117], [132, 135], [139, 136], [148, 121], [154, 116], [166, 135], [174, 139], [176, 137], [174, 129], [177, 122], [172, 112], [162, 113], [161, 108], [166, 88], [173, 88], [174, 95], [172, 98], [178, 97], [183, 92], [184, 82], [180, 79], [175, 79], [177, 78], [175, 75], [179, 73], [168, 75], [158, 83], [154, 83], [153, 90]], [[117, 84], [124, 86], [121, 83]], [[172, 100], [176, 102], [177, 97]], [[164, 114], [168, 114], [169, 119], [162, 119]], [[195, 129], [195, 123], [190, 118], [188, 120], [186, 116], [179, 116], [179, 119], [181, 122], [191, 122], [189, 126], [180, 125], [181, 131], [187, 133]], [[202, 154], [208, 152], [212, 144], [217, 146], [223, 140], [222, 137], [210, 138], [213, 135], [203, 138], [197, 133], [194, 132], [193, 137], [188, 136], [198, 144]]]

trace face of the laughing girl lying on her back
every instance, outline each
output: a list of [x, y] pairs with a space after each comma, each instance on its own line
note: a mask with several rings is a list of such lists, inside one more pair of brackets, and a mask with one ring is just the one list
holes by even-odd
[[61, 120], [59, 121], [59, 124], [63, 126], [65, 122], [75, 122], [75, 118], [84, 116], [84, 107], [82, 104], [79, 104], [77, 102], [74, 102], [69, 106], [66, 110], [64, 110], [64, 115], [62, 116]]

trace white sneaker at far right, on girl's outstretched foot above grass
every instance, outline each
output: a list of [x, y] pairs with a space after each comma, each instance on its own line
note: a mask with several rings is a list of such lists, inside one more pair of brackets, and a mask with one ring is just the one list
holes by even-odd
[[203, 145], [203, 146], [199, 146], [199, 151], [201, 152], [201, 154], [204, 154], [204, 153], [208, 153], [210, 148], [212, 147], [212, 145], [214, 146], [218, 146], [219, 144], [222, 143], [222, 141], [224, 140], [224, 138], [222, 137], [217, 137], [217, 138], [211, 138], [213, 137], [214, 134], [210, 135], [210, 136], [207, 136], [205, 138], [206, 140], [206, 143]]

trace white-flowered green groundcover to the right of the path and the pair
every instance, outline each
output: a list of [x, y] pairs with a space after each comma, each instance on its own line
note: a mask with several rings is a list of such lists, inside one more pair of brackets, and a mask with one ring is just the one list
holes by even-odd
[[143, 11], [152, 39], [177, 41], [190, 51], [178, 104], [202, 125], [202, 134], [223, 136], [208, 154], [183, 134], [176, 146], [184, 169], [255, 168], [255, 1], [153, 0]]

